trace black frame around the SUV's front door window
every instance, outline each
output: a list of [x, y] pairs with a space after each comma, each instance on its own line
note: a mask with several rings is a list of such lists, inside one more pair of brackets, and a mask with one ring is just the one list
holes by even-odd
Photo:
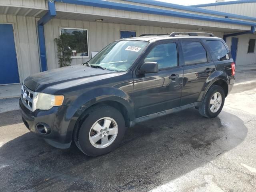
[[[179, 48], [178, 48], [178, 41], [177, 40], [171, 40], [171, 41], [160, 41], [160, 42], [157, 42], [157, 43], [154, 43], [150, 46], [150, 48], [147, 50], [147, 52], [144, 54], [144, 57], [142, 58], [142, 64], [144, 63], [145, 61], [145, 58], [148, 56], [148, 54], [150, 54], [150, 52], [158, 45], [161, 45], [161, 44], [170, 44], [170, 43], [175, 43], [176, 44], [176, 50], [177, 50], [177, 66], [173, 66], [173, 67], [166, 67], [166, 68], [161, 68], [161, 69], [158, 69], [158, 71], [162, 71], [162, 70], [168, 70], [168, 69], [173, 69], [173, 68], [178, 68], [178, 67], [182, 67], [180, 66], [180, 56], [179, 56]], [[142, 65], [141, 64], [141, 65]], [[140, 66], [141, 66], [140, 65]], [[140, 68], [140, 66], [138, 68]]]

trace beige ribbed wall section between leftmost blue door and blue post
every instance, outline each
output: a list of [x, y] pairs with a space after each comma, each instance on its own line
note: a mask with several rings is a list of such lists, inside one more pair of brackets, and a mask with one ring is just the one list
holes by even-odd
[[0, 14], [0, 23], [13, 24], [20, 82], [40, 72], [36, 18]]

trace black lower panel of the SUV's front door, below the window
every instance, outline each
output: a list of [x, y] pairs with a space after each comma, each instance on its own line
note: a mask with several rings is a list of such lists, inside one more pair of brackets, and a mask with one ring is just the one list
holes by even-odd
[[[170, 79], [178, 74], [176, 79]], [[182, 67], [162, 70], [155, 74], [143, 74], [134, 78], [134, 102], [136, 118], [180, 106]]]

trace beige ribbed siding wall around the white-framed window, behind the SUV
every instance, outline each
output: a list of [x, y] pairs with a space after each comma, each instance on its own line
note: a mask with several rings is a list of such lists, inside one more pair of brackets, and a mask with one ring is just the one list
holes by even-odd
[[[120, 39], [120, 30], [136, 31], [137, 36], [140, 36], [141, 34], [170, 34], [174, 31], [179, 32], [190, 30], [189, 28], [184, 30], [174, 28], [160, 28], [154, 26], [136, 26], [125, 24], [52, 19], [50, 22], [44, 25], [48, 70], [58, 68], [57, 47], [54, 43], [54, 38], [58, 38], [60, 36], [60, 27], [88, 29], [89, 56], [91, 56], [92, 51], [100, 51], [102, 48], [104, 48], [114, 40]], [[221, 38], [223, 37], [222, 32], [214, 32], [214, 35]], [[82, 64], [89, 59], [90, 58], [73, 58], [72, 65]]]

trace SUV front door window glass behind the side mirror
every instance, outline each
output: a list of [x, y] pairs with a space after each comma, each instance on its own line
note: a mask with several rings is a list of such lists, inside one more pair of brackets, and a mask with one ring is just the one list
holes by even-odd
[[157, 62], [158, 68], [169, 68], [178, 66], [178, 53], [176, 43], [166, 43], [155, 46], [144, 62]]

